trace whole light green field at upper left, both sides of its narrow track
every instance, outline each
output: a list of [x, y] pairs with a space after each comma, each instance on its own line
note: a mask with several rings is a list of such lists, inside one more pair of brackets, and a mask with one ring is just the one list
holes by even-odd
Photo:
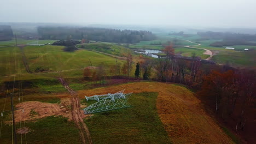
[[[23, 49], [23, 50], [22, 50]], [[116, 59], [101, 53], [88, 50], [77, 50], [75, 52], [64, 52], [63, 46], [25, 46], [19, 47], [0, 47], [1, 55], [1, 76], [13, 75], [15, 56], [16, 56], [16, 73], [22, 74], [22, 79], [27, 77], [53, 76], [57, 71], [62, 71], [63, 75], [82, 76], [83, 68], [88, 67], [89, 58], [93, 66], [104, 62], [105, 65], [114, 65]], [[25, 61], [32, 72], [27, 74], [24, 67], [22, 52], [25, 55]], [[119, 63], [123, 60], [118, 59]], [[51, 73], [34, 73], [36, 68], [48, 68]], [[19, 70], [19, 71], [18, 71]]]

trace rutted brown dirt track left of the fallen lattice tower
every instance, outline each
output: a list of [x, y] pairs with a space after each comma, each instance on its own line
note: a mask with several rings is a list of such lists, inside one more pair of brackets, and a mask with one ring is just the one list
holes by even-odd
[[68, 86], [68, 83], [62, 77], [59, 77], [58, 80], [68, 90], [68, 92], [71, 95], [72, 119], [73, 119], [75, 125], [77, 125], [77, 127], [79, 129], [79, 135], [80, 135], [83, 143], [92, 143], [90, 131], [89, 131], [87, 125], [83, 121], [82, 115], [84, 115], [84, 114], [80, 111], [80, 100], [79, 100], [77, 92], [75, 92], [72, 88], [70, 88]]

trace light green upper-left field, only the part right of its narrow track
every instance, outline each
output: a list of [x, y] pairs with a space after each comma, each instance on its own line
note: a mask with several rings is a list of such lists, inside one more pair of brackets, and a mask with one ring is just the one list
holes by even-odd
[[88, 67], [88, 61], [93, 66], [104, 62], [106, 65], [114, 65], [115, 58], [87, 50], [74, 52], [62, 51], [63, 46], [26, 46], [24, 48], [30, 69], [36, 67], [48, 67], [52, 71], [83, 69]]

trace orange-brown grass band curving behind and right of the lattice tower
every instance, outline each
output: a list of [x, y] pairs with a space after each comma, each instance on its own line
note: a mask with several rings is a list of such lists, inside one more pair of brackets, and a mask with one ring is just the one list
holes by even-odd
[[125, 93], [159, 93], [156, 108], [173, 143], [232, 143], [216, 121], [206, 115], [200, 106], [200, 100], [181, 86], [160, 82], [135, 82], [78, 91], [78, 95], [84, 99], [84, 95], [115, 93], [122, 89], [125, 89]]

